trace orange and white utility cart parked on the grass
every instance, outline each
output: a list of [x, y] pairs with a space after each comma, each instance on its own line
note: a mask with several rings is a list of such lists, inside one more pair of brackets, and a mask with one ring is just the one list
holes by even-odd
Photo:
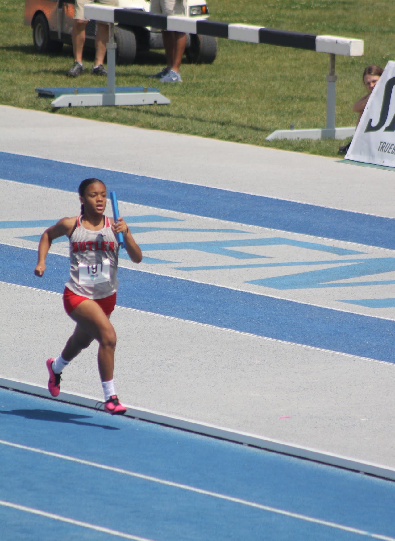
[[[208, 17], [205, 0], [184, 0], [188, 17]], [[133, 8], [149, 12], [149, 0], [119, 0], [120, 8]], [[74, 0], [26, 0], [24, 23], [33, 29], [33, 43], [38, 52], [60, 52], [63, 43], [71, 45], [74, 19]], [[95, 47], [96, 23], [87, 25], [85, 47]], [[160, 30], [148, 27], [116, 25], [117, 63], [133, 64], [142, 50], [162, 49]], [[209, 64], [215, 60], [216, 38], [187, 34], [185, 54], [189, 62]]]

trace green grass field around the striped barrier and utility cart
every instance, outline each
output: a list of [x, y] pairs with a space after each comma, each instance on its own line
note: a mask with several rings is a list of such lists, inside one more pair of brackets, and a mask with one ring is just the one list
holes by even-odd
[[[336, 57], [336, 126], [354, 126], [352, 104], [363, 95], [367, 64], [383, 68], [393, 59], [395, 14], [389, 3], [367, 0], [207, 0], [214, 21], [355, 37], [365, 42], [362, 57]], [[106, 85], [90, 70], [71, 81], [71, 47], [60, 55], [37, 54], [31, 28], [24, 26], [24, 0], [0, 0], [0, 103], [52, 111], [36, 87]], [[86, 67], [92, 56], [88, 53]], [[164, 52], [152, 51], [116, 70], [118, 86], [149, 86], [148, 75], [164, 65]], [[275, 129], [324, 128], [329, 55], [219, 39], [213, 64], [181, 66], [182, 84], [161, 84], [169, 105], [67, 108], [55, 115], [116, 122], [142, 128], [212, 137], [260, 146], [337, 156], [341, 141], [265, 141]]]

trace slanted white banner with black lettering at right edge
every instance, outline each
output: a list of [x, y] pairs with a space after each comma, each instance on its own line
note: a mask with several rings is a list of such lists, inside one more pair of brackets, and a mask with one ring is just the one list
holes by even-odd
[[387, 63], [366, 104], [346, 160], [395, 167], [395, 62]]

